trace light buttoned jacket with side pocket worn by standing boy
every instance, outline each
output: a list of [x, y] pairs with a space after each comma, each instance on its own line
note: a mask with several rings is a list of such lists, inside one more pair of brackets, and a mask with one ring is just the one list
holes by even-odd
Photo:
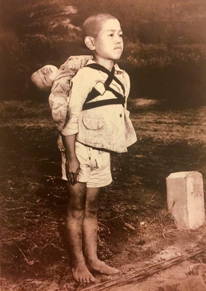
[[[87, 64], [94, 63], [89, 60]], [[80, 69], [71, 79], [72, 89], [69, 93], [68, 113], [69, 120], [61, 131], [63, 135], [77, 134], [79, 142], [117, 153], [127, 152], [127, 147], [133, 144], [136, 134], [127, 110], [129, 95], [129, 76], [115, 64], [115, 76], [125, 87], [125, 106], [120, 104], [106, 105], [82, 111], [82, 106], [88, 93], [93, 87], [100, 92], [92, 102], [116, 98], [111, 91], [105, 91], [104, 81], [108, 75], [89, 67]], [[122, 87], [113, 80], [110, 87], [124, 94]]]

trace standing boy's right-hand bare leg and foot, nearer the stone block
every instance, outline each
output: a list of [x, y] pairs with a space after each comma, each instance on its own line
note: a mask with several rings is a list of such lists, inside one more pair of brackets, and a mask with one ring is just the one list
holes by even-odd
[[97, 257], [97, 212], [99, 205], [100, 188], [87, 187], [86, 206], [83, 218], [83, 247], [87, 265], [100, 273], [112, 275], [119, 270], [110, 267]]

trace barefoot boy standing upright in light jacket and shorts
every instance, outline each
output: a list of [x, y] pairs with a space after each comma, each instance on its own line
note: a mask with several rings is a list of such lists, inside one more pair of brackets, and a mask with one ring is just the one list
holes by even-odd
[[68, 116], [61, 131], [68, 180], [68, 242], [74, 278], [93, 282], [90, 270], [116, 274], [97, 257], [97, 212], [100, 187], [112, 182], [110, 151], [127, 152], [136, 135], [126, 109], [129, 76], [114, 61], [123, 52], [119, 21], [108, 14], [90, 16], [83, 24], [84, 42], [93, 53], [71, 80]]

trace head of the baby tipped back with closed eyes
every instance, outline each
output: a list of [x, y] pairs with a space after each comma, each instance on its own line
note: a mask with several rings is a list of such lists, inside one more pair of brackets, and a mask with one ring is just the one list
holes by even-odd
[[32, 74], [31, 81], [40, 90], [49, 92], [52, 88], [52, 82], [58, 74], [59, 69], [57, 67], [46, 65]]

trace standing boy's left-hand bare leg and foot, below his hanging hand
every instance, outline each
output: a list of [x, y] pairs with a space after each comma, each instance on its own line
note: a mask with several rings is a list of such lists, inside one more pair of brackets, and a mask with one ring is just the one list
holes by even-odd
[[72, 273], [77, 282], [94, 282], [95, 278], [88, 270], [82, 252], [82, 222], [86, 202], [86, 184], [77, 183], [72, 186], [67, 183], [67, 187], [69, 190], [67, 233]]

